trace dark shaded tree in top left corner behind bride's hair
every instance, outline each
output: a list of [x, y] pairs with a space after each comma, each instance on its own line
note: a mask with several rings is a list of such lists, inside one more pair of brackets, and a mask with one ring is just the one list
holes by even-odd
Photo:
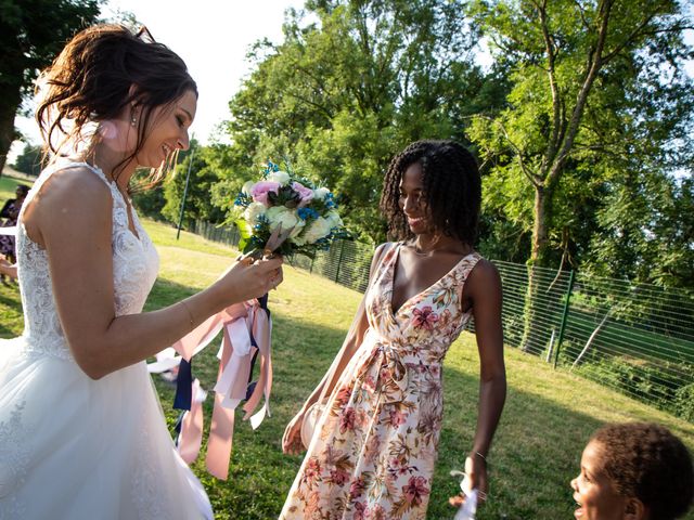
[[0, 0], [0, 172], [14, 117], [40, 69], [79, 29], [97, 22], [101, 0]]

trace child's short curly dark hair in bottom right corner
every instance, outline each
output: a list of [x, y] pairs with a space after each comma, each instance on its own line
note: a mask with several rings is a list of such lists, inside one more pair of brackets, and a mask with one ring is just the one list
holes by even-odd
[[639, 498], [650, 520], [684, 515], [694, 496], [694, 468], [686, 447], [653, 422], [611, 424], [591, 438], [601, 445], [603, 470], [621, 496]]

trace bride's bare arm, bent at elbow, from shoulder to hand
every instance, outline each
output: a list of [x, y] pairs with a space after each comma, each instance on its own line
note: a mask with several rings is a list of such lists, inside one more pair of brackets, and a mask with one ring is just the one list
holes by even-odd
[[99, 178], [73, 168], [53, 173], [24, 213], [29, 237], [48, 252], [55, 306], [70, 351], [91, 378], [154, 355], [215, 312], [267, 292], [281, 265], [281, 260], [237, 263], [182, 302], [116, 317], [112, 205], [110, 190]]

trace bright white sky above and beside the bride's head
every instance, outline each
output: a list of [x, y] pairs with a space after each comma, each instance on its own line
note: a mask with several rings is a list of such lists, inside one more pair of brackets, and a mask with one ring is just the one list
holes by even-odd
[[[285, 10], [303, 4], [303, 0], [108, 0], [102, 14], [133, 13], [157, 41], [183, 58], [200, 91], [191, 132], [206, 144], [215, 128], [229, 119], [229, 100], [249, 73], [250, 46], [262, 38], [281, 42]], [[31, 117], [17, 117], [15, 126], [34, 144], [40, 142]], [[23, 146], [15, 141], [10, 162]]]

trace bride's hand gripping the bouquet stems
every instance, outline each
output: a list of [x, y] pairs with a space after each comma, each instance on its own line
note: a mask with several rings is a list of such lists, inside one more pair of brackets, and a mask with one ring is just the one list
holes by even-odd
[[249, 257], [241, 258], [217, 282], [224, 302], [239, 303], [259, 298], [277, 288], [284, 280], [282, 261], [282, 257], [255, 262]]

